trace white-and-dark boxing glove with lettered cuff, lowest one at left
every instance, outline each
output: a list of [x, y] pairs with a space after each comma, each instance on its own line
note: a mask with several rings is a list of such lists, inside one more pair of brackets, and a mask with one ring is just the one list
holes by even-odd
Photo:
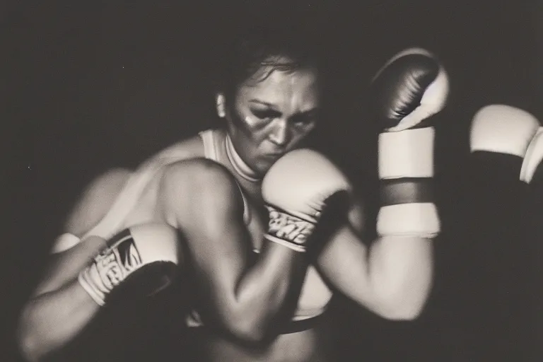
[[180, 248], [174, 228], [145, 224], [126, 229], [78, 275], [79, 284], [98, 305], [115, 296], [151, 296], [175, 276]]

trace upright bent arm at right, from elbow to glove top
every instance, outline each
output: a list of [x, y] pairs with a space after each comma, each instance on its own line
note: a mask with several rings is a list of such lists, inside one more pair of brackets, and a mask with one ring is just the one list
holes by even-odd
[[407, 49], [373, 79], [371, 122], [378, 140], [378, 238], [361, 243], [354, 219], [337, 228], [317, 264], [339, 291], [390, 319], [419, 315], [433, 280], [433, 245], [440, 231], [433, 196], [432, 116], [445, 106], [448, 76], [433, 54]]

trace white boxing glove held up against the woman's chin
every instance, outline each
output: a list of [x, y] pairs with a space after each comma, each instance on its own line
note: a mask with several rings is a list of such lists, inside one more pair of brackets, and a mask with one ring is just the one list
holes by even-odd
[[346, 177], [320, 153], [309, 149], [287, 153], [262, 181], [269, 211], [265, 238], [304, 252], [329, 197], [349, 190]]

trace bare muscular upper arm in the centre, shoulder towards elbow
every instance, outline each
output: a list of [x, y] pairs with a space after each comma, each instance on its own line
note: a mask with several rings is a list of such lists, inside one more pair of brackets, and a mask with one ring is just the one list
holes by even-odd
[[162, 197], [187, 240], [202, 311], [228, 314], [221, 308], [232, 305], [252, 250], [240, 189], [226, 168], [204, 159], [172, 165], [164, 177]]

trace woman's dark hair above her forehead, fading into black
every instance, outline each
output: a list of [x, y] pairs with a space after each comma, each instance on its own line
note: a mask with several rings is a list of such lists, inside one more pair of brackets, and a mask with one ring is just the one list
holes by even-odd
[[240, 83], [253, 76], [262, 66], [271, 71], [296, 71], [311, 67], [320, 69], [317, 42], [308, 28], [255, 26], [235, 35], [226, 47], [215, 84], [216, 91], [233, 95]]

